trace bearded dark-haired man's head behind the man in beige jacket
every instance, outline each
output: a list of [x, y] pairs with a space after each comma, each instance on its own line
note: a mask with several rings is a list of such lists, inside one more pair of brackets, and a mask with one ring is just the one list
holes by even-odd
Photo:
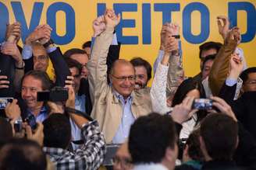
[[134, 88], [146, 88], [148, 81], [151, 79], [151, 64], [141, 57], [133, 58], [130, 63], [133, 64], [133, 67], [135, 68], [136, 81]]

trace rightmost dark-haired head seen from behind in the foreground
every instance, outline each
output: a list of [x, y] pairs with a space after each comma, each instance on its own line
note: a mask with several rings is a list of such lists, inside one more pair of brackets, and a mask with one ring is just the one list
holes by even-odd
[[222, 113], [211, 114], [201, 122], [200, 134], [205, 161], [232, 160], [238, 144], [236, 121]]

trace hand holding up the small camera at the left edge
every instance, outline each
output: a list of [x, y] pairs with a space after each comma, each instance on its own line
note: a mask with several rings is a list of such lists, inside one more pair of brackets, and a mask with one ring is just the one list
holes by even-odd
[[11, 120], [18, 120], [20, 117], [20, 106], [17, 104], [17, 99], [7, 103], [5, 107], [5, 115]]

